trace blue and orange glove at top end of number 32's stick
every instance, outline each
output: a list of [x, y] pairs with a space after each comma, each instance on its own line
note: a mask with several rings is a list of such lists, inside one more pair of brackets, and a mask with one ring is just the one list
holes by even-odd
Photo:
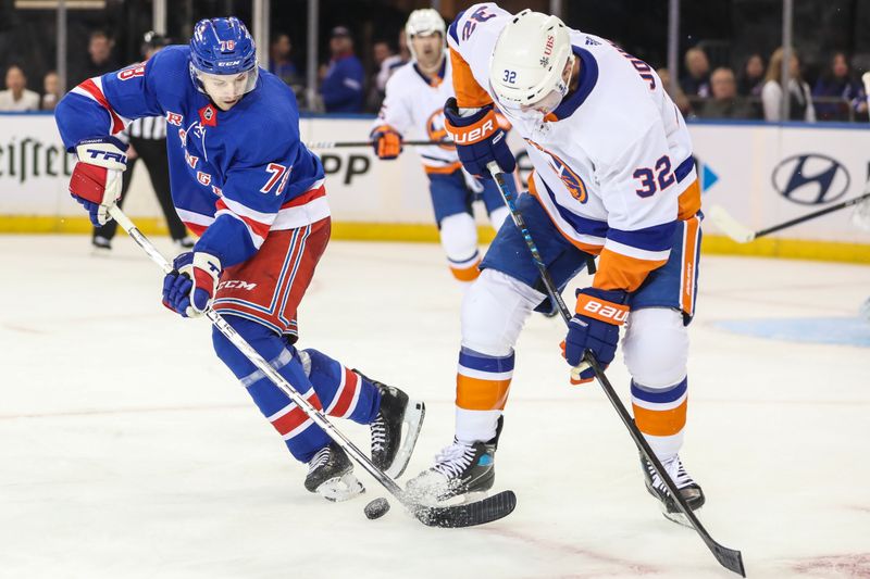
[[456, 99], [444, 105], [444, 128], [453, 139], [456, 152], [465, 171], [484, 179], [492, 179], [486, 165], [498, 163], [505, 173], [513, 173], [517, 160], [508, 147], [508, 134], [498, 124], [493, 105], [486, 105], [469, 116], [459, 116]]

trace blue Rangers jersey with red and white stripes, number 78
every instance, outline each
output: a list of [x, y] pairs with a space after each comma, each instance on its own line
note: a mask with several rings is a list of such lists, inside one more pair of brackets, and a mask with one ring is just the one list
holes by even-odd
[[163, 116], [175, 209], [201, 236], [197, 251], [226, 267], [253, 255], [270, 230], [330, 215], [323, 166], [299, 139], [296, 98], [281, 79], [260, 68], [257, 87], [221, 111], [194, 86], [189, 55], [187, 46], [166, 47], [85, 80], [54, 114], [69, 151], [134, 118]]

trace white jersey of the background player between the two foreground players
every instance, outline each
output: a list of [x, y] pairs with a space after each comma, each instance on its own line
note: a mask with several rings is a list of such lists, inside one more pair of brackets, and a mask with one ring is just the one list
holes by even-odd
[[[433, 80], [411, 61], [389, 77], [374, 128], [389, 125], [402, 139], [443, 140], [447, 138], [444, 103], [453, 96], [450, 62], [446, 55]], [[452, 173], [462, 166], [452, 144], [418, 147], [417, 152], [426, 173]]]

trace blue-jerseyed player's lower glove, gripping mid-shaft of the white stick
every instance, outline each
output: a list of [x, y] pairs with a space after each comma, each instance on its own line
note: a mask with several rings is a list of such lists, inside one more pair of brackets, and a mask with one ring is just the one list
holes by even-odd
[[182, 253], [163, 278], [163, 305], [184, 317], [197, 317], [208, 310], [217, 291], [221, 261], [201, 251]]

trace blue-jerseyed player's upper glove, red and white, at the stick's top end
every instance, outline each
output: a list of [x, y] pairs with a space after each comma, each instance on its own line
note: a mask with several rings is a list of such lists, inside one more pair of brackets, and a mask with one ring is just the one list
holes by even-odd
[[70, 194], [82, 203], [95, 226], [112, 217], [121, 197], [121, 174], [127, 168], [127, 146], [114, 137], [87, 139], [75, 147], [78, 163], [70, 177]]

